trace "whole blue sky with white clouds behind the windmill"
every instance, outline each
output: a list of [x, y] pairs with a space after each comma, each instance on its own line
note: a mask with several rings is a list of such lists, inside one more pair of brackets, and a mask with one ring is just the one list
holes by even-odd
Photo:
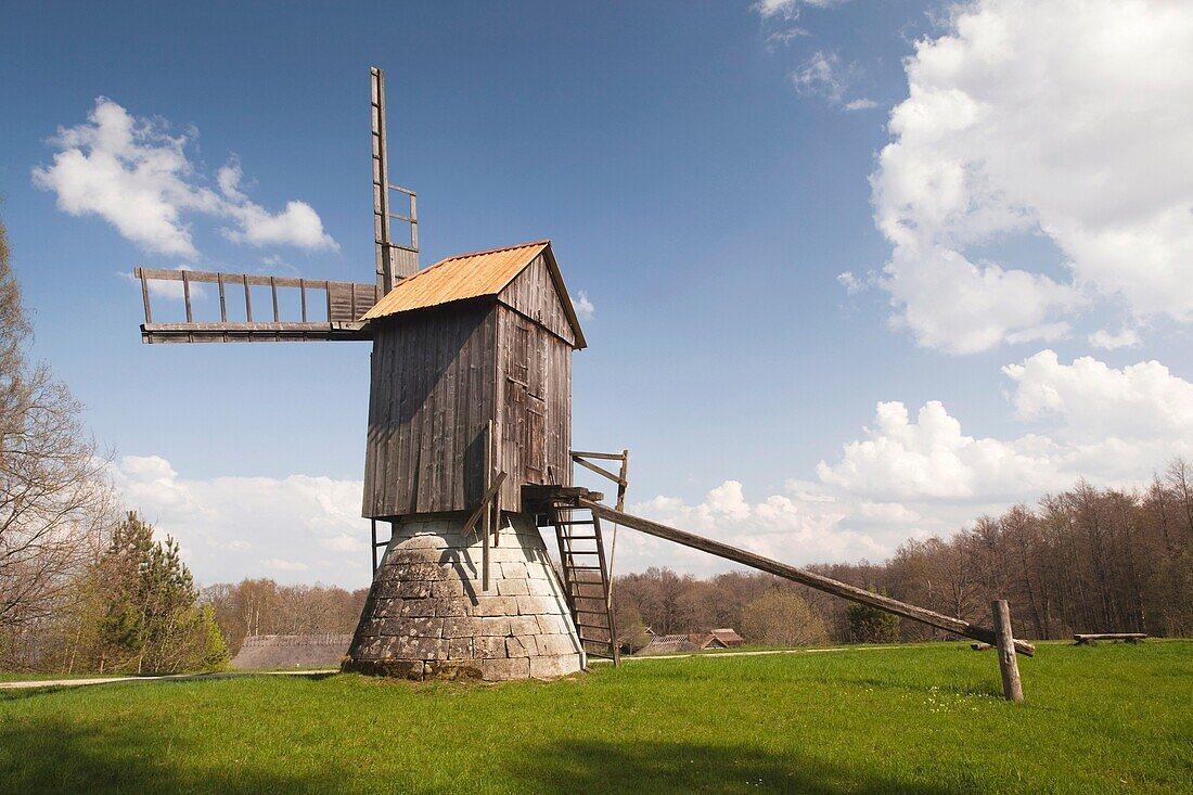
[[[360, 584], [367, 344], [142, 346], [122, 273], [369, 281], [379, 66], [424, 264], [548, 236], [593, 303], [574, 440], [632, 450], [639, 510], [809, 562], [1137, 482], [1193, 449], [1189, 14], [1036, 5], [10, 5], [35, 352], [200, 579]], [[122, 183], [173, 242], [115, 221], [97, 107], [183, 159]]]

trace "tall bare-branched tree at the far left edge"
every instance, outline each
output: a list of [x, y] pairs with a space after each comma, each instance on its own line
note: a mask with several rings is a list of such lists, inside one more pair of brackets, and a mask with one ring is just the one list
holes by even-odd
[[37, 636], [74, 593], [110, 505], [80, 405], [27, 360], [31, 334], [0, 223], [0, 661], [13, 666], [44, 664]]

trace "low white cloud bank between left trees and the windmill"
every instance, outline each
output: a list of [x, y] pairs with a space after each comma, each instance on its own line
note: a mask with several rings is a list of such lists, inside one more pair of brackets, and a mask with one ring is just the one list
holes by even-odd
[[203, 583], [284, 575], [347, 587], [369, 584], [360, 481], [191, 479], [160, 456], [124, 456], [111, 475], [128, 507], [178, 538]]

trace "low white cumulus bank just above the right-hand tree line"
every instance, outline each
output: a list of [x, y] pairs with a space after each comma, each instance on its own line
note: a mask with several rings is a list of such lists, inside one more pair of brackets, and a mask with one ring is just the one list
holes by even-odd
[[[966, 433], [940, 401], [914, 413], [880, 402], [863, 437], [821, 461], [815, 481], [792, 479], [783, 493], [752, 501], [729, 480], [694, 505], [657, 497], [633, 510], [795, 563], [876, 560], [907, 538], [951, 534], [1081, 477], [1132, 488], [1173, 456], [1193, 455], [1193, 383], [1158, 362], [1065, 364], [1045, 350], [1003, 372], [1014, 419], [1041, 427], [982, 437]], [[628, 544], [628, 566], [665, 556], [693, 572], [723, 567], [641, 538]]]

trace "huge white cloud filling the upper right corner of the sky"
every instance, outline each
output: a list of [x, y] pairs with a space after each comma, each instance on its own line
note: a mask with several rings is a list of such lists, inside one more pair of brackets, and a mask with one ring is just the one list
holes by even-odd
[[[871, 177], [896, 325], [953, 352], [1047, 340], [1089, 306], [1193, 320], [1193, 6], [979, 0], [916, 44]], [[1067, 278], [968, 251], [1041, 235]]]

